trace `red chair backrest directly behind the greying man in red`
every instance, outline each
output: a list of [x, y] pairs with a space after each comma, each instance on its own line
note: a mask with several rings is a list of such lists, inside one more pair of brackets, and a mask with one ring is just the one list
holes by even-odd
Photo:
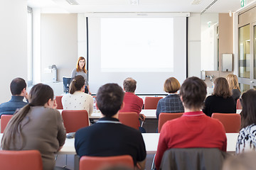
[[119, 121], [127, 126], [139, 130], [139, 115], [136, 112], [119, 112]]

